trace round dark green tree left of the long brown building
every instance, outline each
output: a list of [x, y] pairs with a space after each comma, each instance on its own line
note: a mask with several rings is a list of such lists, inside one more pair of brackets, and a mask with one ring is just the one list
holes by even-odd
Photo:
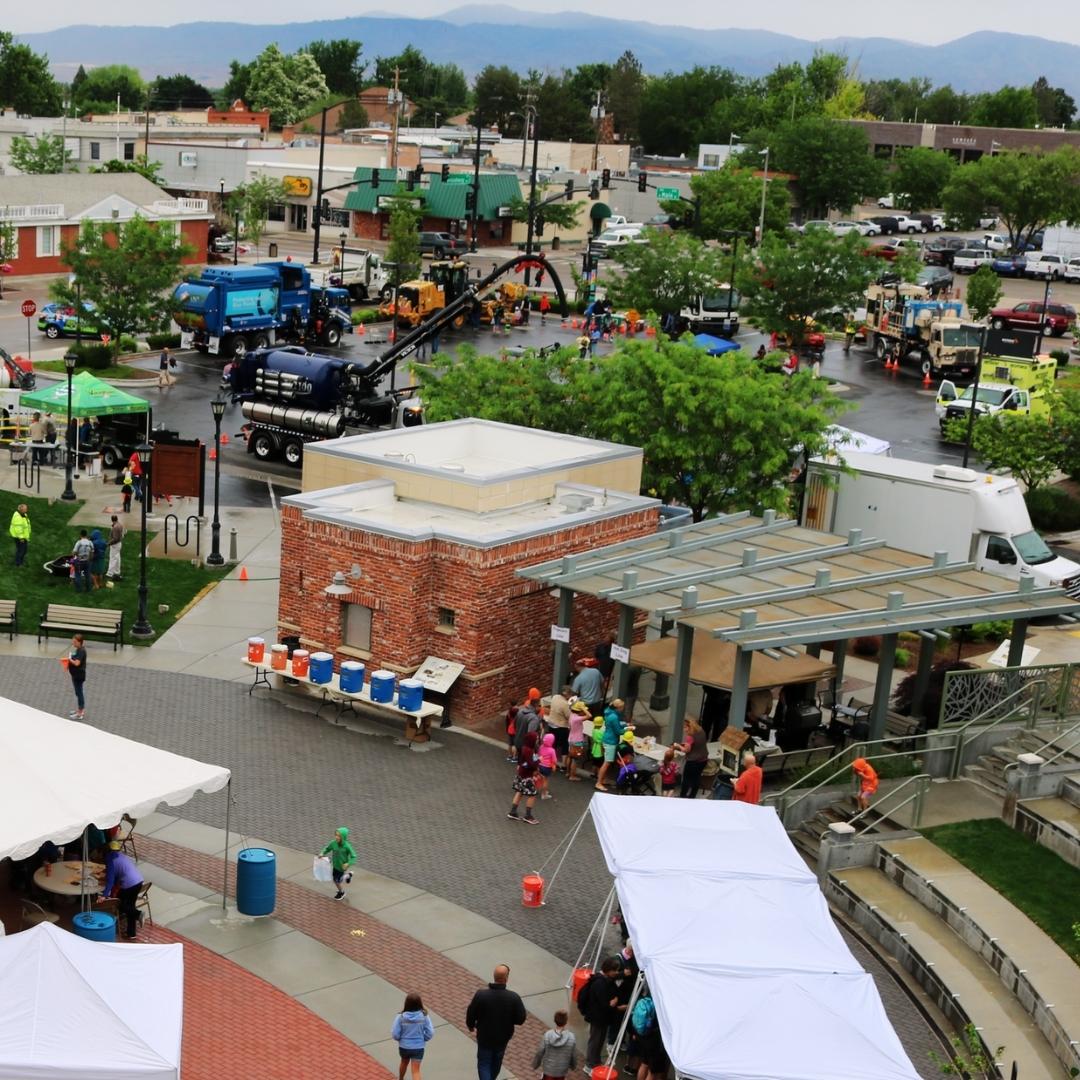
[[852, 124], [819, 116], [786, 121], [770, 147], [770, 168], [794, 175], [799, 204], [810, 217], [854, 206], [881, 190], [881, 163], [870, 156], [865, 133]]

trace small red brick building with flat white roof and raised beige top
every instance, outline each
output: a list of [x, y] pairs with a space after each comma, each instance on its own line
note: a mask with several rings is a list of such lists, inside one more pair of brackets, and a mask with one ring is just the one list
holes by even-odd
[[[552, 678], [556, 600], [515, 570], [656, 531], [640, 475], [636, 447], [483, 420], [310, 444], [282, 500], [279, 632], [368, 671], [461, 663], [455, 721], [497, 716]], [[324, 592], [337, 571], [348, 596]], [[580, 598], [570, 654], [616, 619]]]

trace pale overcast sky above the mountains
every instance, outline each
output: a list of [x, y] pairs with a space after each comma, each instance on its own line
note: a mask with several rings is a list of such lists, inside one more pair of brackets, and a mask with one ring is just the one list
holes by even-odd
[[[435, 15], [460, 6], [467, 0], [411, 0], [396, 14]], [[105, 25], [170, 25], [202, 19], [259, 23], [295, 23], [318, 18], [343, 18], [365, 11], [393, 11], [395, 4], [372, 0], [318, 0], [305, 6], [295, 0], [108, 0], [87, 5], [84, 0], [52, 0], [44, 9], [32, 4], [4, 3], [3, 28], [15, 32], [49, 30], [78, 23]], [[1011, 30], [1080, 43], [1080, 16], [1076, 0], [1043, 0], [1037, 17], [1024, 17], [1025, 9], [1012, 0], [908, 0], [907, 3], [873, 3], [870, 0], [681, 0], [658, 4], [656, 0], [550, 0], [548, 3], [512, 6], [532, 11], [559, 11], [568, 6], [594, 15], [666, 22], [712, 28], [746, 27], [819, 39], [839, 36], [904, 38], [939, 43], [973, 30]], [[1035, 15], [1032, 10], [1032, 15]], [[44, 17], [42, 17], [44, 16]], [[299, 18], [298, 18], [299, 16]], [[570, 16], [572, 18], [572, 16]]]

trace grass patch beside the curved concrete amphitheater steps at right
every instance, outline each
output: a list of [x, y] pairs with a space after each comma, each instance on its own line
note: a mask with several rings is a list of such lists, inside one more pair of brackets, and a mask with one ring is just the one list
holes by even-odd
[[1080, 869], [996, 818], [922, 829], [954, 859], [1018, 907], [1080, 963]]

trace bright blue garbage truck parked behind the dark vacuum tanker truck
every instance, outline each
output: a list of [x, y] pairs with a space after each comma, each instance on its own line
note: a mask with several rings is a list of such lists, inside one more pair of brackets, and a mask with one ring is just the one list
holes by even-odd
[[241, 359], [274, 345], [334, 348], [352, 333], [348, 289], [312, 285], [299, 264], [207, 267], [173, 293], [180, 346]]

